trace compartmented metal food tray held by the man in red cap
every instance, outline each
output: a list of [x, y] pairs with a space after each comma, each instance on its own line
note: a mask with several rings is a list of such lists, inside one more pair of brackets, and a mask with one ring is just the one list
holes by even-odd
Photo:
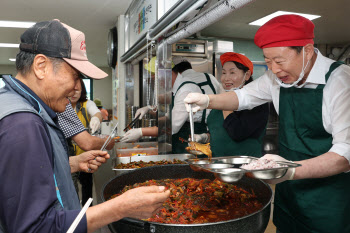
[[215, 157], [211, 160], [205, 159], [187, 159], [185, 160], [195, 171], [207, 171], [214, 173], [215, 177], [226, 183], [233, 183], [240, 180], [243, 175], [255, 179], [268, 180], [283, 177], [289, 168], [301, 166], [300, 164], [285, 161], [276, 161], [277, 164], [286, 167], [246, 170], [240, 168], [243, 164], [248, 164], [258, 158], [251, 156], [227, 156]]

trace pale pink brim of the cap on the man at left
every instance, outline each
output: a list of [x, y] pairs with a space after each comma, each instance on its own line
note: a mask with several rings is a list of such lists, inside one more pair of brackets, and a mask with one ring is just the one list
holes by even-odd
[[92, 79], [103, 79], [108, 76], [103, 70], [93, 65], [89, 61], [72, 60], [63, 58], [68, 64]]

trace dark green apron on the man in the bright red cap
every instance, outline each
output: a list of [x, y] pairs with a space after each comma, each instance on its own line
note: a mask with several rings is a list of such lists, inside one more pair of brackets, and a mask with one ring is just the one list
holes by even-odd
[[[331, 65], [326, 82], [341, 64]], [[281, 87], [279, 149], [284, 158], [305, 160], [331, 148], [332, 135], [322, 123], [323, 88]], [[273, 217], [283, 233], [350, 232], [350, 173], [276, 185]]]

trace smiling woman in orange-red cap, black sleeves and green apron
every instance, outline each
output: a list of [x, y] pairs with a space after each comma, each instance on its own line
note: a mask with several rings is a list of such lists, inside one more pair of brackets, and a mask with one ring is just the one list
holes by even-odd
[[[221, 84], [224, 91], [239, 90], [253, 81], [253, 63], [244, 55], [228, 52], [220, 56]], [[207, 119], [209, 133], [195, 134], [194, 141], [210, 142], [214, 157], [248, 155], [261, 157], [262, 139], [269, 117], [265, 103], [251, 110], [221, 111], [213, 109]]]

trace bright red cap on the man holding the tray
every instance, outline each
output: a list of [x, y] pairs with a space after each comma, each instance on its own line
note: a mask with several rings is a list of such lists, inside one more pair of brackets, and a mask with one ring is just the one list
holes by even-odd
[[277, 16], [259, 28], [254, 37], [260, 48], [314, 44], [315, 25], [300, 15]]

